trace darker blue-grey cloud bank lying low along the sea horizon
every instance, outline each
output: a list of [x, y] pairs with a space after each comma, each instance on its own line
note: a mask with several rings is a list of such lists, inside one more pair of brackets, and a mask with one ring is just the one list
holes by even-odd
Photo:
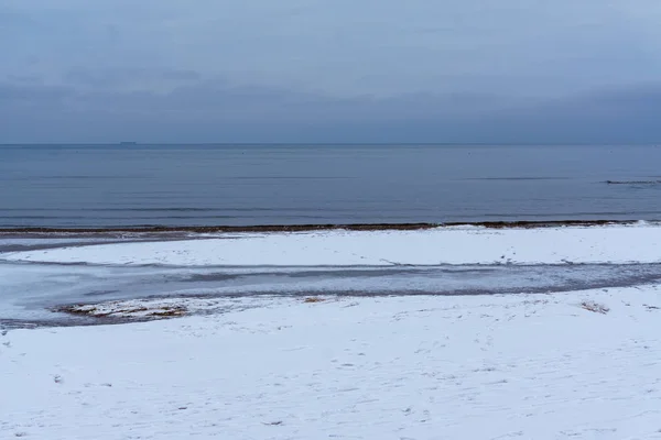
[[0, 142], [621, 143], [661, 139], [661, 85], [551, 102], [496, 95], [328, 98], [203, 82], [169, 94], [0, 86]]

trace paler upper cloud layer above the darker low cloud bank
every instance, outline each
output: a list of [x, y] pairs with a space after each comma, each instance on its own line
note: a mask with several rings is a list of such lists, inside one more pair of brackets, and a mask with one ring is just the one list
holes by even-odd
[[[13, 26], [0, 41], [8, 61], [0, 75], [36, 69], [53, 77], [75, 66], [94, 72], [185, 66], [205, 78], [219, 75], [335, 96], [507, 91], [546, 97], [661, 75], [658, 0], [4, 4], [34, 24]], [[28, 55], [40, 62], [30, 65]], [[535, 89], [542, 80], [544, 87]], [[105, 87], [104, 80], [94, 87]]]

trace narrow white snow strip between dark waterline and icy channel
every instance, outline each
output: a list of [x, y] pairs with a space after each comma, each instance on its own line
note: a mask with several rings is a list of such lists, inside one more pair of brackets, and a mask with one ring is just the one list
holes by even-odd
[[99, 244], [4, 254], [8, 261], [121, 265], [438, 265], [661, 262], [661, 226], [437, 228], [220, 234], [216, 239]]

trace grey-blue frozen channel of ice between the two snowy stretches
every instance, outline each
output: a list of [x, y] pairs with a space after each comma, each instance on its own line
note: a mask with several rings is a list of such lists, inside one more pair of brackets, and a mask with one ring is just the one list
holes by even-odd
[[[661, 280], [658, 264], [172, 267], [0, 264], [0, 324], [75, 323], [53, 309], [140, 298], [494, 295]], [[87, 322], [88, 320], [84, 320]]]

